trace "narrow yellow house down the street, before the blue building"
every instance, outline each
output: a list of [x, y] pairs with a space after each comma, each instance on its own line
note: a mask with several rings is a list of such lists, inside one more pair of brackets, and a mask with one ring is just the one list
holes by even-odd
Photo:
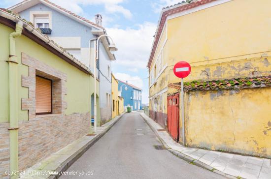
[[119, 82], [112, 74], [112, 118], [115, 118], [124, 111], [124, 100], [119, 96]]

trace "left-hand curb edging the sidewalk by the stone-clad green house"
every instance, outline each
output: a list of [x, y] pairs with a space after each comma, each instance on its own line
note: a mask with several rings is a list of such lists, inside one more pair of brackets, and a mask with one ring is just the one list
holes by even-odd
[[91, 146], [93, 146], [108, 130], [111, 129], [111, 127], [117, 123], [123, 116], [125, 115], [125, 112], [122, 113], [118, 119], [116, 119], [112, 124], [110, 124], [104, 131], [102, 131], [100, 134], [95, 136], [93, 140], [88, 142], [85, 146], [83, 146], [81, 149], [77, 150], [75, 153], [73, 153], [67, 160], [65, 160], [56, 170], [55, 172], [58, 175], [51, 175], [47, 179], [58, 179], [63, 172], [68, 170], [68, 168], [78, 159], [80, 158]]

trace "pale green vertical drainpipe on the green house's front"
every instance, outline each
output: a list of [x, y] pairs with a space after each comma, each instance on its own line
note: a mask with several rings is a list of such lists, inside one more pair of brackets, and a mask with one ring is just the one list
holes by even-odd
[[[17, 179], [18, 167], [18, 60], [15, 38], [21, 36], [23, 22], [16, 23], [16, 29], [9, 35], [9, 148], [11, 179]], [[15, 174], [14, 174], [15, 173]]]

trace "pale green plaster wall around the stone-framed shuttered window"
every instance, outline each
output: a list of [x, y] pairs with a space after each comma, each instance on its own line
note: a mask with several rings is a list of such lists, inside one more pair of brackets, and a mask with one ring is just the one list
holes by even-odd
[[[8, 122], [8, 60], [9, 34], [14, 30], [0, 24], [0, 122]], [[28, 98], [28, 88], [22, 87], [22, 75], [28, 76], [28, 66], [22, 64], [22, 52], [40, 60], [57, 70], [67, 74], [66, 115], [86, 113], [91, 110], [91, 94], [94, 92], [94, 78], [54, 55], [47, 49], [21, 35], [16, 38], [16, 54], [18, 57], [18, 109], [19, 120], [28, 120], [28, 111], [21, 110], [21, 99]], [[99, 94], [99, 82], [97, 83]]]

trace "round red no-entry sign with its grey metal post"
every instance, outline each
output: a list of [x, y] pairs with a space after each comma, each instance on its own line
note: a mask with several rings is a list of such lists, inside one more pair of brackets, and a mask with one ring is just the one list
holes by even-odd
[[184, 87], [183, 78], [187, 77], [191, 72], [191, 66], [186, 61], [179, 61], [174, 65], [173, 72], [176, 77], [181, 78], [181, 118], [182, 118], [182, 131], [179, 128], [179, 135], [182, 134], [182, 142], [185, 146], [185, 124], [184, 124]]

